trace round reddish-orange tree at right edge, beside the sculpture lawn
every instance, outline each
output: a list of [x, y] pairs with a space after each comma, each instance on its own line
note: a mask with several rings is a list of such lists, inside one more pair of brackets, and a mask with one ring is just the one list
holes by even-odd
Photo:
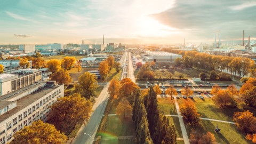
[[238, 129], [248, 133], [256, 132], [256, 117], [249, 110], [244, 112], [236, 112], [233, 116], [233, 121]]

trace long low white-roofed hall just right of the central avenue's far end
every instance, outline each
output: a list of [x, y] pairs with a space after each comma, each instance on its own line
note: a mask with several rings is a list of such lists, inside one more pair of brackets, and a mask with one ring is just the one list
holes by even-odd
[[182, 58], [182, 55], [162, 51], [145, 51], [145, 54], [142, 54], [142, 57], [146, 61], [174, 62], [176, 58]]

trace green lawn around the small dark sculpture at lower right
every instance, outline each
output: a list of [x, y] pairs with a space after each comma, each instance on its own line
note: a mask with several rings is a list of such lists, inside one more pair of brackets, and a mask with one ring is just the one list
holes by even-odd
[[[190, 125], [186, 125], [186, 130], [189, 138], [190, 138], [190, 132], [194, 128], [194, 129], [199, 129], [204, 133], [206, 132], [213, 133], [218, 143], [234, 143], [234, 144], [251, 143], [250, 141], [245, 139], [245, 134], [239, 131], [234, 124], [213, 122], [213, 121], [207, 121], [207, 120], [202, 120], [201, 124], [202, 124], [202, 127], [198, 127], [198, 126], [193, 127]], [[220, 133], [216, 133], [214, 131], [216, 125], [218, 125], [218, 127], [221, 129]]]

